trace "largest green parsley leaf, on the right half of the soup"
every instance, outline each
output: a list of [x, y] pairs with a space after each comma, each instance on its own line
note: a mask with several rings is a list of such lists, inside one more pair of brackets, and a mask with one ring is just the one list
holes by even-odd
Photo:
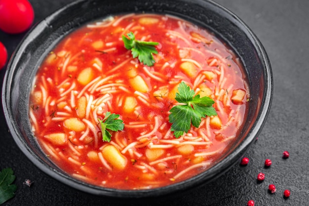
[[173, 107], [169, 115], [171, 131], [174, 131], [176, 138], [188, 132], [191, 124], [198, 127], [202, 117], [217, 115], [212, 107], [214, 100], [207, 96], [200, 98], [199, 94], [194, 96], [194, 90], [185, 82], [179, 84], [178, 92], [175, 99], [183, 104]]

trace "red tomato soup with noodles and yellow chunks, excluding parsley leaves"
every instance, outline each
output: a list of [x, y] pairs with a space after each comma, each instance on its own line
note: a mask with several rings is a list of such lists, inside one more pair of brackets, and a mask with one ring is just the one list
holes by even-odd
[[[122, 35], [158, 42], [147, 66]], [[175, 138], [169, 110], [180, 82], [215, 101], [218, 116]], [[151, 189], [196, 175], [230, 149], [246, 117], [249, 88], [237, 56], [213, 34], [169, 15], [126, 14], [92, 22], [46, 56], [33, 83], [29, 117], [45, 154], [69, 175], [116, 189]], [[124, 129], [109, 130], [106, 112]]]

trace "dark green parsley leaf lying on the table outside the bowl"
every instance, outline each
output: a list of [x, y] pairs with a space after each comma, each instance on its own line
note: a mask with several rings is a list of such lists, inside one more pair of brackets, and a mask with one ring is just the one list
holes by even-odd
[[15, 175], [11, 168], [4, 168], [0, 171], [0, 205], [15, 196], [17, 186], [12, 184]]

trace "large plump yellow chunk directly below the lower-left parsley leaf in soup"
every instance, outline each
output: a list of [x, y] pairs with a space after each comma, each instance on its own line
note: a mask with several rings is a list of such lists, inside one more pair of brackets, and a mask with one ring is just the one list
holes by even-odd
[[122, 170], [127, 164], [127, 159], [121, 155], [119, 150], [113, 146], [108, 145], [102, 149], [104, 159], [113, 166], [113, 169]]

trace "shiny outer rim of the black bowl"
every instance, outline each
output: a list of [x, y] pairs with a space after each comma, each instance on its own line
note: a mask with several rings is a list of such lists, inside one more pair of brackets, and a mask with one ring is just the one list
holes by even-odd
[[[14, 141], [18, 145], [18, 147], [22, 150], [22, 152], [27, 156], [27, 158], [36, 165], [40, 170], [48, 174], [49, 176], [53, 177], [54, 179], [69, 185], [75, 189], [78, 189], [80, 191], [84, 191], [90, 194], [94, 195], [104, 195], [109, 197], [121, 197], [121, 198], [141, 198], [141, 197], [156, 197], [161, 195], [166, 195], [172, 192], [181, 191], [184, 189], [192, 188], [193, 186], [200, 185], [202, 182], [198, 182], [199, 178], [194, 176], [192, 178], [189, 178], [187, 180], [181, 181], [179, 183], [175, 183], [172, 185], [149, 189], [149, 190], [119, 190], [119, 189], [113, 189], [113, 188], [103, 188], [99, 186], [94, 186], [91, 184], [84, 183], [82, 181], [76, 180], [73, 177], [69, 175], [64, 175], [61, 172], [53, 169], [51, 166], [46, 165], [42, 160], [39, 159], [39, 157], [36, 156], [36, 154], [31, 150], [31, 148], [20, 139], [18, 134], [18, 127], [14, 125], [14, 118], [11, 111], [11, 105], [10, 105], [10, 92], [11, 88], [8, 87], [8, 85], [11, 84], [13, 80], [13, 75], [11, 71], [14, 71], [16, 68], [16, 61], [23, 55], [23, 50], [28, 46], [29, 41], [31, 41], [33, 38], [35, 38], [39, 31], [46, 27], [48, 25], [48, 22], [58, 15], [60, 15], [62, 12], [64, 12], [66, 9], [68, 9], [71, 6], [77, 5], [81, 2], [84, 2], [86, 0], [77, 0], [73, 1], [67, 5], [62, 6], [61, 8], [57, 9], [53, 13], [49, 14], [47, 17], [45, 17], [43, 20], [41, 20], [35, 27], [33, 27], [23, 38], [23, 40], [18, 44], [17, 48], [13, 52], [8, 66], [7, 70], [5, 72], [5, 76], [3, 79], [3, 85], [2, 85], [2, 108], [4, 112], [4, 116], [6, 119], [6, 123], [8, 125], [10, 135], [13, 137]], [[237, 17], [232, 11], [225, 8], [224, 6], [220, 5], [219, 3], [216, 3], [212, 0], [193, 0], [195, 3], [200, 2], [208, 2], [212, 4], [213, 8], [217, 9], [216, 12], [220, 12], [221, 14], [228, 16], [229, 20], [231, 20], [233, 23], [236, 23], [238, 26], [241, 26], [246, 34], [248, 35], [248, 38], [251, 39], [252, 43], [254, 44], [255, 49], [257, 50], [258, 54], [260, 55], [260, 59], [263, 64], [264, 68], [264, 98], [262, 99], [260, 112], [258, 116], [256, 117], [255, 123], [252, 125], [251, 130], [246, 135], [247, 137], [229, 154], [228, 157], [224, 158], [222, 161], [220, 161], [217, 165], [213, 166], [211, 171], [215, 170], [216, 168], [221, 168], [221, 171], [228, 170], [232, 165], [235, 164], [237, 160], [241, 157], [241, 155], [248, 149], [248, 147], [254, 142], [255, 137], [260, 134], [266, 119], [268, 117], [271, 101], [272, 101], [272, 93], [273, 93], [273, 78], [272, 78], [272, 71], [270, 66], [270, 60], [268, 58], [268, 55], [266, 53], [266, 50], [262, 43], [258, 40], [256, 35], [251, 31], [251, 29], [239, 18]], [[233, 164], [228, 164], [228, 162], [233, 162]], [[202, 172], [203, 174], [204, 172]], [[209, 173], [209, 172], [208, 172]], [[221, 172], [222, 173], [222, 172]], [[209, 178], [211, 179], [214, 176], [218, 176], [214, 172], [209, 174]], [[195, 181], [191, 181], [195, 178]], [[171, 190], [172, 188], [172, 190]]]

